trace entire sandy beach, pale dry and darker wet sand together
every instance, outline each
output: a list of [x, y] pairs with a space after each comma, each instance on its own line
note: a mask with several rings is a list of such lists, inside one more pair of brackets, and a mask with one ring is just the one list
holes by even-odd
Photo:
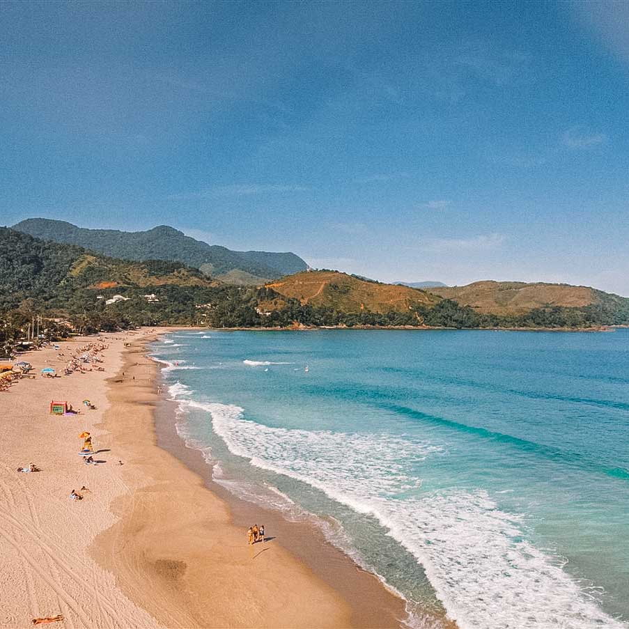
[[[202, 469], [157, 445], [158, 369], [145, 345], [159, 332], [101, 334], [104, 372], [39, 375], [95, 337], [59, 343], [63, 357], [31, 352], [37, 378], [1, 394], [0, 627], [56, 614], [65, 620], [52, 626], [72, 628], [398, 626], [402, 601], [332, 547], [318, 553], [316, 536], [300, 557], [284, 529], [247, 545], [238, 510], [208, 490]], [[52, 399], [81, 412], [50, 415]], [[83, 430], [98, 465], [78, 456]], [[16, 472], [30, 462], [41, 472]], [[82, 486], [84, 499], [71, 500]]]

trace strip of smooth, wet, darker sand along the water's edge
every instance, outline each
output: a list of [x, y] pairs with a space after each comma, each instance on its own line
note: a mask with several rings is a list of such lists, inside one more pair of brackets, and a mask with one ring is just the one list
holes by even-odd
[[[169, 331], [172, 329], [161, 333]], [[306, 523], [295, 523], [300, 531], [293, 538], [308, 540], [305, 547], [316, 547], [308, 557], [293, 552], [286, 527], [279, 522], [276, 526], [268, 511], [264, 511], [270, 523], [267, 534], [277, 539], [265, 543], [263, 549], [247, 546], [244, 522], [254, 515], [260, 520], [260, 509], [254, 505], [240, 508], [221, 492], [222, 488], [210, 485], [210, 468], [201, 453], [187, 449], [176, 434], [172, 403], [155, 393], [159, 365], [147, 356], [146, 345], [157, 338], [156, 332], [160, 333], [145, 329], [142, 338], [125, 348], [123, 367], [111, 378], [111, 406], [102, 428], [115, 437], [116, 451], [125, 452], [128, 463], [134, 464], [132, 470], [125, 461], [122, 468], [132, 497], [114, 501], [112, 508], [118, 520], [98, 536], [91, 556], [116, 575], [127, 596], [152, 609], [157, 620], [169, 627], [401, 626], [406, 617], [403, 600], [371, 573], [359, 570]], [[135, 378], [131, 383], [130, 376]], [[122, 416], [134, 419], [121, 426], [116, 417]], [[138, 443], [138, 430], [146, 433], [144, 445]], [[129, 477], [131, 471], [133, 478]], [[279, 514], [276, 517], [281, 519]], [[228, 538], [227, 554], [221, 554], [213, 540], [217, 531]], [[216, 565], [193, 568], [217, 553]], [[319, 554], [321, 561], [315, 561]], [[218, 609], [212, 605], [216, 591], [208, 587], [208, 570], [222, 580], [226, 573], [232, 573], [224, 590], [229, 602]], [[149, 580], [153, 596], [138, 588], [140, 576]], [[256, 584], [256, 591], [265, 591], [265, 596], [250, 600], [247, 580]], [[264, 587], [259, 588], [259, 582]], [[153, 609], [156, 599], [160, 609]], [[201, 605], [201, 600], [212, 603]], [[277, 608], [279, 601], [281, 609]]]

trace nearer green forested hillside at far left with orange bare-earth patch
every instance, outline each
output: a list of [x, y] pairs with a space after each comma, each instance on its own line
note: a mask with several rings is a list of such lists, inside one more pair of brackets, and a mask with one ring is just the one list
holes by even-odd
[[116, 294], [129, 299], [114, 305], [127, 305], [128, 310], [132, 302], [134, 309], [142, 311], [151, 305], [143, 295], [155, 293], [171, 295], [151, 306], [157, 320], [169, 320], [177, 318], [180, 302], [189, 302], [192, 316], [194, 306], [201, 303], [197, 299], [215, 295], [218, 286], [180, 262], [116, 260], [0, 228], [0, 311], [104, 313], [107, 299]]

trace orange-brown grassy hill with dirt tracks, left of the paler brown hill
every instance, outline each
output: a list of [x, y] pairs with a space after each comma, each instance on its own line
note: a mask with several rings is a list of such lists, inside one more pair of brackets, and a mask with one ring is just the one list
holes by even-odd
[[440, 297], [407, 286], [368, 281], [338, 271], [307, 271], [267, 284], [276, 293], [311, 306], [345, 312], [408, 311], [410, 306], [433, 306]]

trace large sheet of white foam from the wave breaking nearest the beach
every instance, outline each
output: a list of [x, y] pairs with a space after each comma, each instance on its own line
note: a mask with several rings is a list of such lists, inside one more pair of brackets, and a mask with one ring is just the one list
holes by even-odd
[[412, 469], [440, 452], [387, 434], [269, 428], [233, 405], [187, 401], [206, 410], [228, 449], [376, 518], [424, 566], [462, 629], [626, 628], [607, 616], [562, 564], [526, 541], [522, 516], [484, 491], [405, 498]]

